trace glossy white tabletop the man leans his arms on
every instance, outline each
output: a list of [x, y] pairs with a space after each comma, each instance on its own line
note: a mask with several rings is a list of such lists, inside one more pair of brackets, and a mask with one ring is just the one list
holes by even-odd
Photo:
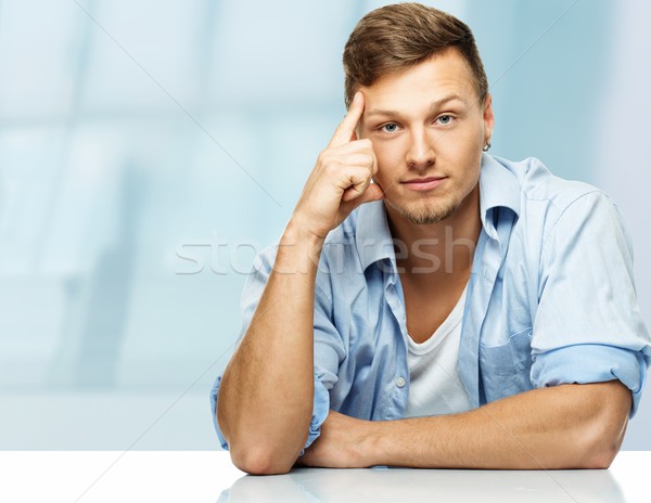
[[246, 476], [227, 452], [0, 452], [2, 502], [649, 502], [651, 452], [608, 470], [315, 469]]

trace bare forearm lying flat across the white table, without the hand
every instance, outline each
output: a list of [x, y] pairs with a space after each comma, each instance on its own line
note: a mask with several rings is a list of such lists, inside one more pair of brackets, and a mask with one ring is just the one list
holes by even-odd
[[[621, 383], [541, 388], [467, 413], [369, 423], [369, 464], [607, 467], [620, 449], [630, 409], [629, 391], [615, 387], [622, 387]], [[604, 399], [610, 401], [608, 407]]]

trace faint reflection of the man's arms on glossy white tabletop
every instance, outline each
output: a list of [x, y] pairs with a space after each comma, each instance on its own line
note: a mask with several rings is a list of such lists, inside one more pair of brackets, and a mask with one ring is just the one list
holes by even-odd
[[482, 501], [625, 502], [610, 470], [459, 470], [376, 467], [298, 468], [288, 475], [244, 476], [218, 503]]

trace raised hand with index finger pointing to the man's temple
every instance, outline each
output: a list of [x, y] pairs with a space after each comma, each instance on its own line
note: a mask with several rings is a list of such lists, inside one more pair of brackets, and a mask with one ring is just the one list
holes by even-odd
[[384, 197], [371, 183], [378, 159], [370, 140], [357, 140], [355, 129], [363, 113], [363, 94], [358, 92], [328, 147], [319, 154], [292, 220], [303, 231], [320, 238], [337, 227], [356, 207]]

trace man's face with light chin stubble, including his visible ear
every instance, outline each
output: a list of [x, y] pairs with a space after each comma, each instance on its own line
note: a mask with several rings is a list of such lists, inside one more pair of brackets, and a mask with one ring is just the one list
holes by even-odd
[[390, 212], [413, 223], [452, 215], [477, 184], [493, 132], [490, 96], [480, 104], [463, 57], [447, 50], [360, 90], [359, 137], [373, 143]]

